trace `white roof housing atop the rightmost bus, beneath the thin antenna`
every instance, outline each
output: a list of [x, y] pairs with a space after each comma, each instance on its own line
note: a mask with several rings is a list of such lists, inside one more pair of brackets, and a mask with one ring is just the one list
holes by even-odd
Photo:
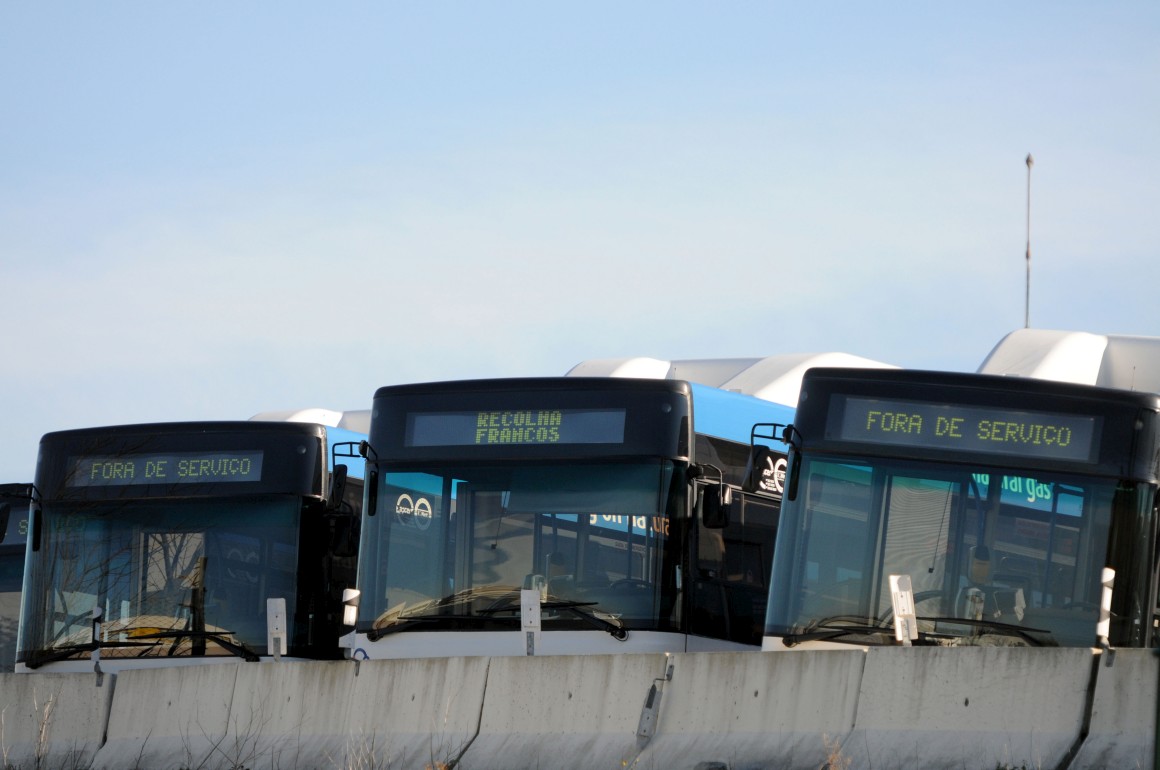
[[1160, 337], [1016, 329], [979, 372], [1160, 393]]

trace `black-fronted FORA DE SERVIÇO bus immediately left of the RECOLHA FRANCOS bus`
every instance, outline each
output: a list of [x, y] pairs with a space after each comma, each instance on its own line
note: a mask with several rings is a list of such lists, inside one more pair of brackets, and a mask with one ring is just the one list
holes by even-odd
[[334, 459], [362, 438], [254, 421], [46, 434], [16, 670], [340, 656], [362, 462]]

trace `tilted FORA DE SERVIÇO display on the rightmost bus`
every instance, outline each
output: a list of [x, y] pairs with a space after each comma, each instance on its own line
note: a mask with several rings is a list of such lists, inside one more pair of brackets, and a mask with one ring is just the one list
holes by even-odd
[[835, 395], [831, 438], [1094, 463], [1097, 417]]

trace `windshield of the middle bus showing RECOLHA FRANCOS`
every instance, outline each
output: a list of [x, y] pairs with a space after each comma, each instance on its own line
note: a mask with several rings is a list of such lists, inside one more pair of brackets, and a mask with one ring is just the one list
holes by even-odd
[[648, 460], [383, 471], [362, 533], [358, 630], [510, 630], [522, 588], [539, 589], [545, 630], [592, 627], [594, 617], [667, 624], [680, 560], [668, 553], [669, 513], [683, 488], [673, 470]]

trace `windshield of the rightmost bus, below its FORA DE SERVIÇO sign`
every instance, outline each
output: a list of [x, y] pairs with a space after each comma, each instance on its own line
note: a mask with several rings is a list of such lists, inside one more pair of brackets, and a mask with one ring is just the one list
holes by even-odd
[[803, 457], [766, 633], [893, 644], [889, 580], [908, 575], [927, 644], [1093, 646], [1128, 497], [1112, 480]]

